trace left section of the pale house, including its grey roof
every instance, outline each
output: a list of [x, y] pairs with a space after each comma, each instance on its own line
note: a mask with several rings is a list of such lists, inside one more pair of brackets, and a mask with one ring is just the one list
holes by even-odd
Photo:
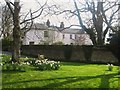
[[22, 40], [23, 45], [29, 44], [52, 44], [60, 41], [60, 31], [56, 27], [48, 27], [45, 24], [35, 23], [31, 29], [25, 33]]

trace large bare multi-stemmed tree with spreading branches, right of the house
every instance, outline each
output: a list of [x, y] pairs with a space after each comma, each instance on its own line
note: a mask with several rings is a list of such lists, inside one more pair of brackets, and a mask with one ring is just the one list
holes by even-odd
[[[79, 21], [78, 26], [80, 26], [84, 31], [86, 31], [90, 35], [90, 38], [93, 41], [93, 43], [97, 45], [103, 45], [108, 30], [111, 29], [112, 31], [115, 31], [113, 28], [113, 23], [115, 23], [115, 20], [117, 20], [115, 16], [117, 16], [116, 14], [120, 9], [118, 7], [118, 0], [115, 0], [115, 2], [111, 2], [109, 0], [106, 0], [106, 2], [84, 0], [84, 2], [85, 3], [81, 3], [79, 2], [79, 0], [73, 0], [75, 6], [74, 10], [57, 10], [56, 12], [54, 12], [54, 14], [59, 15], [63, 13], [69, 13], [70, 18], [76, 16]], [[82, 6], [80, 7], [80, 4], [78, 5], [78, 3], [80, 3]], [[89, 13], [89, 16], [91, 16], [90, 19], [84, 21], [81, 13]], [[88, 27], [86, 22], [91, 22], [91, 25]], [[105, 29], [103, 28], [103, 25], [106, 26]]]

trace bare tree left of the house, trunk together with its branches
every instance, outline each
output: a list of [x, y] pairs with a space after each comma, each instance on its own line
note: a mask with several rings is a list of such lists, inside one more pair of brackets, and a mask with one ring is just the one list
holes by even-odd
[[[22, 35], [22, 30], [24, 30], [28, 22], [30, 21], [30, 27], [33, 24], [33, 19], [38, 18], [44, 10], [44, 6], [47, 4], [45, 2], [44, 5], [42, 5], [38, 10], [32, 12], [31, 10], [29, 13], [26, 14], [25, 18], [20, 22], [20, 0], [14, 0], [14, 2], [11, 2], [9, 0], [5, 0], [8, 8], [11, 11], [12, 14], [12, 20], [13, 20], [13, 53], [12, 53], [12, 61], [13, 62], [18, 62], [20, 63], [20, 47], [21, 47], [21, 35]], [[38, 13], [38, 15], [34, 15], [35, 13]], [[27, 16], [30, 15], [30, 18], [27, 18]], [[33, 16], [34, 15], [34, 16]], [[24, 27], [20, 27], [20, 25], [25, 24]], [[29, 29], [28, 29], [29, 30]]]

